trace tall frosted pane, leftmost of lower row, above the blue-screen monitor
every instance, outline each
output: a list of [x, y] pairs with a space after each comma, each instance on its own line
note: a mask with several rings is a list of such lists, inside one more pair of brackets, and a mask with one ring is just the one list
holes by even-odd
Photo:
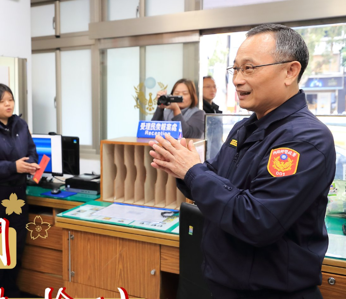
[[33, 54], [33, 133], [56, 132], [55, 77], [55, 53]]

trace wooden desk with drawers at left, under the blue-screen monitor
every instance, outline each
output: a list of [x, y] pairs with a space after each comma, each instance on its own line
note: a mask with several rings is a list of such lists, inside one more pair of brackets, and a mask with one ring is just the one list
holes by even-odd
[[29, 213], [29, 222], [34, 222], [36, 216], [41, 216], [43, 222], [50, 224], [50, 228], [47, 238], [32, 239], [30, 232], [27, 233], [18, 286], [21, 291], [40, 297], [45, 296], [47, 287], [52, 287], [55, 297], [57, 290], [64, 286], [63, 229], [55, 226], [55, 216], [62, 210], [71, 209], [83, 202], [27, 196], [26, 203], [30, 208], [42, 208]]

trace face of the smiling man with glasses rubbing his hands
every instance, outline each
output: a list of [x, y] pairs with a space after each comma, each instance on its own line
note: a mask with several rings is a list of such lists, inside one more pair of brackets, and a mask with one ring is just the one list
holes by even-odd
[[[234, 60], [235, 66], [251, 64], [253, 66], [274, 63], [271, 56], [275, 49], [275, 40], [271, 33], [260, 33], [248, 37], [240, 46]], [[253, 69], [253, 73], [245, 75], [241, 70], [233, 76], [233, 84], [239, 98], [241, 108], [256, 112], [261, 118], [268, 111], [280, 106], [288, 100], [285, 88], [286, 64], [261, 66]]]

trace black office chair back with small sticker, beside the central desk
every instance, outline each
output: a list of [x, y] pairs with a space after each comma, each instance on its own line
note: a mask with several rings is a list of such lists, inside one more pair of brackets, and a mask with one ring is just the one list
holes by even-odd
[[201, 270], [204, 217], [196, 205], [182, 202], [179, 213], [179, 285], [177, 299], [211, 299]]

